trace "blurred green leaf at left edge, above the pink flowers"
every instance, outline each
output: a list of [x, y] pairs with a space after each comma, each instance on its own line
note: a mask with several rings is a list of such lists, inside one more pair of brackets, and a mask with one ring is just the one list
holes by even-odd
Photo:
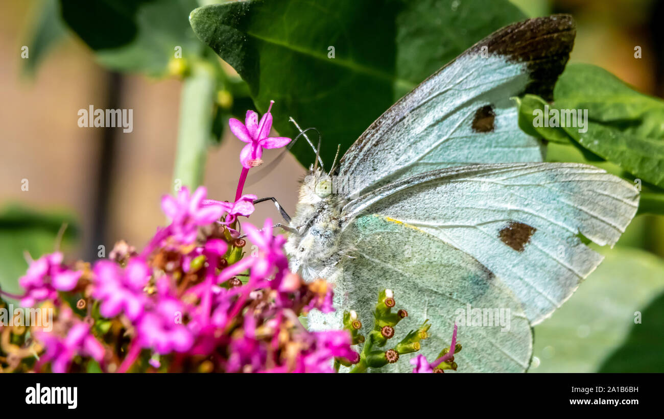
[[7, 206], [0, 211], [0, 287], [3, 291], [13, 294], [21, 291], [19, 277], [28, 267], [23, 252], [27, 251], [34, 259], [52, 253], [63, 223], [68, 224], [63, 237], [67, 243], [78, 235], [71, 215], [41, 213], [21, 206]]

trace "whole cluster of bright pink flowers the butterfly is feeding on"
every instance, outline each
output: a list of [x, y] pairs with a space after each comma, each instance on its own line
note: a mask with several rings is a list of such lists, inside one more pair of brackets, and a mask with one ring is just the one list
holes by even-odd
[[[248, 143], [243, 176], [262, 148], [290, 142], [268, 137], [271, 125], [269, 111], [260, 123], [251, 111], [246, 125], [230, 121]], [[240, 194], [243, 183], [241, 176], [232, 203], [207, 199], [204, 187], [165, 196], [171, 223], [141, 253], [123, 243], [114, 260], [84, 270], [68, 269], [62, 253], [31, 263], [23, 304], [56, 311], [56, 327], [34, 333], [42, 346], [35, 371], [85, 371], [79, 364], [94, 360], [118, 372], [333, 372], [335, 358], [357, 360], [348, 331], [311, 333], [300, 324], [310, 310], [333, 311], [331, 286], [305, 284], [288, 270], [285, 239], [273, 235], [270, 219], [262, 229], [242, 223], [258, 249], [244, 255], [238, 216], [252, 214], [256, 196]]]

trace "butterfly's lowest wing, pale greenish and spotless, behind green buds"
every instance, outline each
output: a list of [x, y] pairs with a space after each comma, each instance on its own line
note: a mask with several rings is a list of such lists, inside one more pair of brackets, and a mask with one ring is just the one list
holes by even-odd
[[[430, 337], [421, 341], [420, 353], [434, 361], [444, 347], [450, 347], [452, 326], [459, 316], [465, 318], [470, 308], [495, 308], [503, 310], [503, 320], [507, 320], [503, 327], [497, 316], [497, 326], [459, 328], [457, 340], [463, 345], [463, 356], [457, 359], [458, 371], [527, 369], [533, 337], [521, 304], [476, 259], [416, 227], [380, 215], [358, 217], [347, 231], [356, 239], [355, 247], [342, 265], [344, 279], [337, 280], [335, 295], [358, 312], [365, 331], [371, 328], [371, 310], [381, 290], [394, 290], [396, 308], [408, 311], [384, 349], [429, 320]], [[414, 355], [401, 355], [397, 363], [379, 371], [410, 371], [413, 367], [408, 359]]]

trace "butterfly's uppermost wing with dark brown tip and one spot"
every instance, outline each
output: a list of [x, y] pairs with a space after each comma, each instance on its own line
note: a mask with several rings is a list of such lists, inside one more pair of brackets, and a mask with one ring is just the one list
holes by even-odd
[[383, 113], [350, 147], [339, 174], [352, 196], [438, 168], [540, 162], [511, 97], [550, 97], [574, 43], [568, 15], [529, 19], [481, 40]]

